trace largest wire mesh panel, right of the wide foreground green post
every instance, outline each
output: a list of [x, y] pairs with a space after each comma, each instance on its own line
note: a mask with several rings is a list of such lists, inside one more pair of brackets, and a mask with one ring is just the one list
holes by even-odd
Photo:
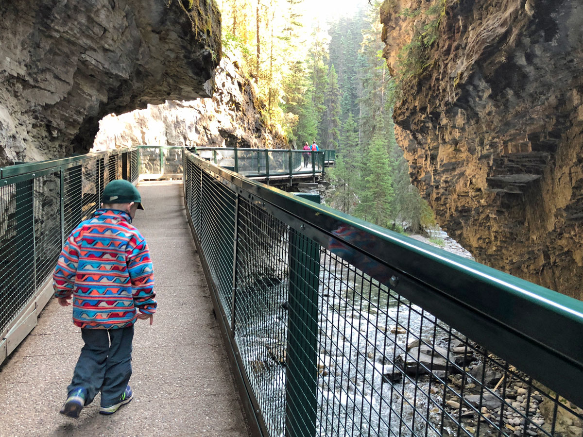
[[322, 253], [321, 435], [547, 436], [556, 431], [555, 408], [583, 425], [580, 408]]

